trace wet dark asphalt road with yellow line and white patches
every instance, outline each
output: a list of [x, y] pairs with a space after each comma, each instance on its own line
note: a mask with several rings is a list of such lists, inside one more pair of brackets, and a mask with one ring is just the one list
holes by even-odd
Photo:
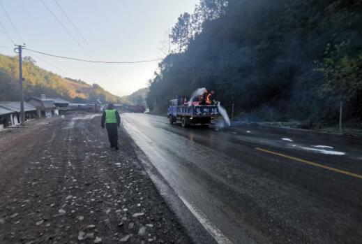
[[361, 243], [361, 140], [252, 126], [183, 129], [166, 117], [121, 117], [218, 243]]

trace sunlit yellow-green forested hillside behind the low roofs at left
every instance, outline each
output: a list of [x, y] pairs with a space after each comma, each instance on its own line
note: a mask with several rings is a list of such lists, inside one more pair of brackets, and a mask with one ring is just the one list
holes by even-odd
[[[23, 62], [24, 97], [59, 96], [73, 102], [123, 102], [97, 84], [89, 85], [82, 80], [62, 78], [36, 66], [30, 57]], [[0, 55], [0, 101], [19, 101], [19, 65], [17, 57]]]

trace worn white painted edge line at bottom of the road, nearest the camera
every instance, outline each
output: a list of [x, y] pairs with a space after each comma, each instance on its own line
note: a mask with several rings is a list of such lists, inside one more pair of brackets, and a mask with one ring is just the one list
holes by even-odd
[[215, 226], [207, 217], [202, 213], [201, 210], [199, 210], [197, 207], [193, 206], [191, 203], [183, 199], [182, 196], [179, 196], [181, 201], [188, 207], [191, 213], [199, 220], [199, 222], [202, 224], [202, 226], [208, 231], [211, 236], [215, 239], [215, 241], [219, 244], [233, 244], [232, 241], [227, 238], [218, 227]]

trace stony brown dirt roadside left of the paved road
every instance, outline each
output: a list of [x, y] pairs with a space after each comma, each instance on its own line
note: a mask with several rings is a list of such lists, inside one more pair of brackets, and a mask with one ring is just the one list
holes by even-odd
[[0, 133], [0, 243], [191, 243], [119, 131], [100, 117]]

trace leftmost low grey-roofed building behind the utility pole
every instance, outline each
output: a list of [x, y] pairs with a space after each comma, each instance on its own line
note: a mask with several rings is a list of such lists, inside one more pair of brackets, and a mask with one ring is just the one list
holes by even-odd
[[[0, 101], [0, 129], [20, 124], [20, 101]], [[25, 121], [37, 117], [36, 108], [24, 102]]]

